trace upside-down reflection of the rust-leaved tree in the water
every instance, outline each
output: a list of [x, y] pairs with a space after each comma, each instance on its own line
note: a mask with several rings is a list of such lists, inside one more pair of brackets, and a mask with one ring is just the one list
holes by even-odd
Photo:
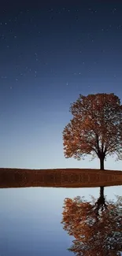
[[74, 236], [68, 250], [76, 255], [120, 255], [122, 250], [122, 197], [105, 202], [104, 187], [95, 202], [83, 198], [65, 198], [61, 223], [69, 236]]

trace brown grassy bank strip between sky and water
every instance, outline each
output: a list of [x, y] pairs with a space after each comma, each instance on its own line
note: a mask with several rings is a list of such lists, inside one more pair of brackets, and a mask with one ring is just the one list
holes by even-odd
[[0, 168], [0, 187], [100, 187], [122, 185], [122, 172], [99, 169]]

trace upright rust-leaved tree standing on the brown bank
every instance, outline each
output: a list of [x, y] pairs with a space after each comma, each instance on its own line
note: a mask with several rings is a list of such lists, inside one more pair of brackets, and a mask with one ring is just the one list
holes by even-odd
[[113, 93], [79, 95], [69, 111], [73, 118], [62, 132], [65, 158], [80, 160], [91, 154], [99, 158], [100, 169], [104, 169], [107, 155], [116, 154], [116, 160], [122, 160], [120, 98]]

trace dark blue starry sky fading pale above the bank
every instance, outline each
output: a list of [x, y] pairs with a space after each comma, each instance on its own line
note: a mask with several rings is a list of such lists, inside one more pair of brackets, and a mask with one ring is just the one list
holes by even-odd
[[0, 8], [0, 167], [99, 168], [65, 159], [62, 131], [79, 94], [122, 99], [122, 3], [41, 2]]

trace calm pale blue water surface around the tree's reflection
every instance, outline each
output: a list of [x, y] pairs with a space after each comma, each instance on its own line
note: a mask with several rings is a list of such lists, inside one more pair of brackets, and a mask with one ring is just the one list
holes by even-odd
[[[116, 200], [121, 191], [122, 186], [105, 187], [106, 200]], [[74, 237], [61, 224], [64, 200], [84, 196], [91, 201], [90, 195], [98, 199], [99, 192], [100, 187], [0, 189], [0, 255], [73, 255], [67, 249]]]

